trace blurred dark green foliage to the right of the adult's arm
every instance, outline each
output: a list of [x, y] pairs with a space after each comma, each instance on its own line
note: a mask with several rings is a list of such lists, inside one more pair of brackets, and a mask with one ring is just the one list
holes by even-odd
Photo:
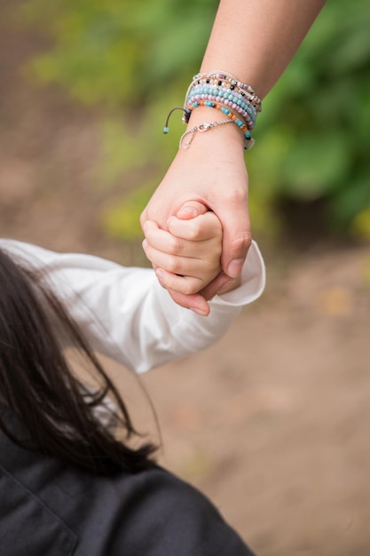
[[[370, 8], [328, 2], [264, 103], [256, 181], [272, 199], [323, 199], [327, 229], [370, 238]], [[273, 136], [285, 155], [264, 167]], [[262, 151], [262, 152], [261, 152]], [[266, 156], [267, 154], [267, 156]], [[259, 161], [259, 156], [264, 159]], [[258, 167], [256, 168], [256, 163]], [[275, 173], [276, 172], [276, 173]], [[275, 179], [272, 174], [275, 173]], [[258, 186], [257, 186], [258, 187]], [[314, 222], [313, 222], [314, 224]]]

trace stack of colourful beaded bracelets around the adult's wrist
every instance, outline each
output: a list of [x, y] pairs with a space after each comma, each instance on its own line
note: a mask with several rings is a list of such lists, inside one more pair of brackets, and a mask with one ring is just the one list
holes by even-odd
[[[220, 110], [228, 118], [228, 120], [223, 120], [224, 123], [236, 123], [243, 132], [244, 147], [246, 149], [253, 147], [255, 140], [251, 138], [250, 131], [255, 127], [256, 116], [261, 112], [262, 103], [250, 85], [240, 82], [233, 75], [223, 71], [216, 70], [210, 73], [196, 74], [186, 91], [184, 107], [179, 108], [184, 112], [184, 123], [189, 122], [190, 115], [197, 107], [211, 107]], [[163, 129], [164, 133], [168, 133], [169, 116], [176, 109], [173, 108], [169, 112]], [[219, 122], [215, 123], [215, 125], [220, 124]], [[190, 146], [195, 131], [207, 131], [215, 125], [210, 126], [208, 123], [203, 123], [201, 126], [185, 131], [179, 146], [181, 147], [183, 139], [188, 133], [191, 134], [191, 137], [186, 141], [185, 148]], [[205, 128], [203, 129], [202, 126]]]

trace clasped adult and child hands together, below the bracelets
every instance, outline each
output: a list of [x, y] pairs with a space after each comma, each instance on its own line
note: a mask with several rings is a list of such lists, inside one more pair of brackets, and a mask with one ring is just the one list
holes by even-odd
[[233, 127], [180, 149], [141, 215], [161, 285], [199, 314], [209, 314], [216, 293], [236, 287], [251, 242], [248, 174]]

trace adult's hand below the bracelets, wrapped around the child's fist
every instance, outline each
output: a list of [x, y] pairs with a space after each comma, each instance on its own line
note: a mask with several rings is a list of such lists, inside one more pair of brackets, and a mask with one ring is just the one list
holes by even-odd
[[[212, 121], [211, 118], [214, 118], [212, 109], [198, 109], [192, 115], [191, 125]], [[189, 149], [178, 150], [141, 215], [141, 225], [144, 227], [146, 220], [154, 220], [161, 228], [168, 229], [169, 217], [177, 215], [189, 201], [199, 201], [216, 213], [224, 231], [221, 258], [224, 274], [232, 278], [239, 276], [251, 233], [243, 137], [234, 124], [196, 133]], [[215, 282], [209, 287], [209, 296], [216, 293], [217, 286]]]

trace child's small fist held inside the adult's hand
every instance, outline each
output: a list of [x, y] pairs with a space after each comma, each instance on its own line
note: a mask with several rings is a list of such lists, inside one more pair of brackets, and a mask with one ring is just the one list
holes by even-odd
[[185, 203], [168, 221], [169, 231], [146, 222], [143, 249], [161, 285], [181, 294], [203, 290], [221, 272], [222, 226], [199, 202]]

